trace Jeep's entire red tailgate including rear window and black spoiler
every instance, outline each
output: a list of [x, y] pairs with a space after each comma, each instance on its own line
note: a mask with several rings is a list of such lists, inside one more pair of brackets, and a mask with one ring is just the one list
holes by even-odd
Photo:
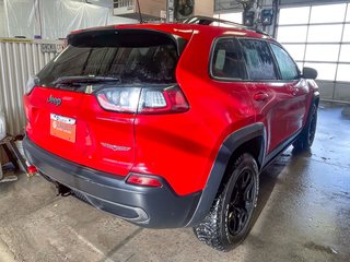
[[[62, 158], [126, 176], [135, 162], [133, 96], [144, 85], [176, 82], [180, 38], [150, 29], [108, 29], [69, 39], [24, 96], [27, 135]], [[124, 110], [125, 91], [132, 88]]]

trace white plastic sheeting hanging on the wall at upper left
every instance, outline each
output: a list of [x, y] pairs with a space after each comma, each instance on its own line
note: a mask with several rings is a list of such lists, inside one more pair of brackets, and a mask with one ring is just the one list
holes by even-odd
[[71, 0], [2, 0], [7, 21], [5, 36], [58, 39], [71, 31], [108, 24], [136, 23], [112, 15], [112, 9]]

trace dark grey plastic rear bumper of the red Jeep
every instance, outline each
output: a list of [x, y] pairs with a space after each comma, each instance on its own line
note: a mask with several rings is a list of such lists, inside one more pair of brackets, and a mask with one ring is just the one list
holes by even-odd
[[28, 162], [50, 179], [98, 210], [150, 228], [184, 227], [198, 205], [201, 192], [177, 195], [165, 180], [161, 188], [131, 186], [125, 177], [102, 172], [56, 156], [27, 136], [23, 147]]

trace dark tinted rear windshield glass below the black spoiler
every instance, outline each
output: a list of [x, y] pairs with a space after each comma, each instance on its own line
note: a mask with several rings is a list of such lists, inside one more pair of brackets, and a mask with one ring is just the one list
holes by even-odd
[[122, 83], [175, 83], [177, 53], [174, 45], [135, 47], [73, 47], [39, 74], [47, 86], [63, 76], [119, 78]]

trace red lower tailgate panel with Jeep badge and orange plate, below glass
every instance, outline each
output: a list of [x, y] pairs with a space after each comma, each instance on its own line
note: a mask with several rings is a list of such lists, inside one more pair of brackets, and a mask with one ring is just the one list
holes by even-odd
[[125, 176], [132, 167], [135, 115], [106, 111], [94, 95], [46, 87], [34, 88], [25, 105], [26, 132], [43, 148], [106, 172]]

